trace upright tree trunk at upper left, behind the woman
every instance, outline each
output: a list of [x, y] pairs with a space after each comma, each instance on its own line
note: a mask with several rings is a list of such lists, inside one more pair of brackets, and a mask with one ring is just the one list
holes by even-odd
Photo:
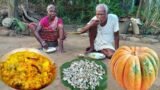
[[18, 18], [18, 0], [8, 0], [8, 17]]

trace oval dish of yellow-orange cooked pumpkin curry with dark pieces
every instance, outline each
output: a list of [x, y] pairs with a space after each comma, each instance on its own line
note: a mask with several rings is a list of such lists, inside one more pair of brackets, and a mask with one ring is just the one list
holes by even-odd
[[49, 85], [56, 76], [56, 66], [44, 53], [31, 48], [9, 52], [1, 58], [0, 77], [20, 90], [37, 90]]

